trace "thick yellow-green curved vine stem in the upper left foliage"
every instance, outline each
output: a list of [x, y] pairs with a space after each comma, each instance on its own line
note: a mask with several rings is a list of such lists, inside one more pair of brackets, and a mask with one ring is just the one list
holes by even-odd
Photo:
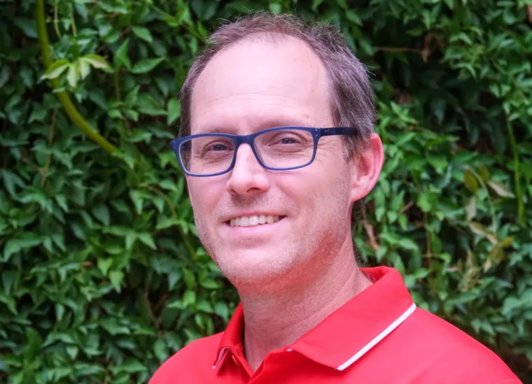
[[[48, 41], [48, 33], [46, 32], [46, 23], [44, 20], [44, 0], [36, 0], [36, 9], [35, 9], [35, 20], [37, 23], [37, 36], [38, 42], [41, 46], [41, 58], [45, 69], [48, 69], [52, 65], [53, 57], [52, 52], [50, 51], [50, 43]], [[57, 90], [61, 85], [57, 78], [50, 79], [52, 87]], [[113, 153], [116, 150], [116, 147], [109, 143], [109, 141], [99, 134], [90, 124], [83, 118], [82, 115], [76, 109], [76, 106], [73, 105], [69, 95], [64, 91], [56, 92], [57, 99], [61, 103], [66, 115], [69, 116], [71, 122], [73, 122], [84, 134], [86, 134], [94, 143], [97, 143], [102, 147], [106, 152]]]

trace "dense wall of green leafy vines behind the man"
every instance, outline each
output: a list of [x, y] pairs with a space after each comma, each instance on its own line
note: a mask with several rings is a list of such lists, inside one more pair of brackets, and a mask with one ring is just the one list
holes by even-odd
[[531, 4], [1, 2], [0, 382], [146, 383], [223, 329], [237, 295], [168, 143], [204, 37], [269, 9], [336, 24], [372, 72], [386, 164], [365, 263], [532, 383]]

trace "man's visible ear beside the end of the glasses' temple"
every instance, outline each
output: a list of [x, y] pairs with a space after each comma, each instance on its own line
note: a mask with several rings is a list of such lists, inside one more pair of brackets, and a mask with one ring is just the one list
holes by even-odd
[[351, 157], [351, 201], [367, 196], [377, 184], [384, 162], [384, 149], [379, 135], [372, 134], [370, 145]]

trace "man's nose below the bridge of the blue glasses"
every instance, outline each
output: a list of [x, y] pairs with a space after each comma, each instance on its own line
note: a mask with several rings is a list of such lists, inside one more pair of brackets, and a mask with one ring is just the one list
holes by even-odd
[[237, 158], [227, 184], [228, 192], [234, 196], [261, 194], [269, 189], [266, 170], [260, 165], [248, 144], [237, 150]]

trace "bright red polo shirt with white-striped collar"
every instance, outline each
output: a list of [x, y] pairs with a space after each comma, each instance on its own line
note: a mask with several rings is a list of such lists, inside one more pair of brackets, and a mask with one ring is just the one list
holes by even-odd
[[518, 384], [481, 343], [416, 308], [398, 271], [362, 269], [374, 283], [253, 372], [244, 357], [239, 305], [225, 332], [193, 341], [150, 384]]

